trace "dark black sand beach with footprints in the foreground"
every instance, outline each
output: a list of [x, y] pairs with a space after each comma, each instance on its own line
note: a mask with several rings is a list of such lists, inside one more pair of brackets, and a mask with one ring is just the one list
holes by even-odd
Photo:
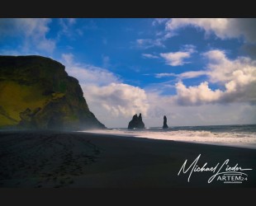
[[[224, 184], [211, 171], [178, 171], [201, 154], [198, 166], [251, 168], [248, 180]], [[256, 150], [147, 138], [72, 132], [0, 132], [1, 188], [256, 187]]]

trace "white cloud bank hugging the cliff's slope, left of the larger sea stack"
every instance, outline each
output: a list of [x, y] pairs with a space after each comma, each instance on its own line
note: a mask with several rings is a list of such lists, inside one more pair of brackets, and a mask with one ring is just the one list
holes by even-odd
[[147, 95], [140, 87], [122, 83], [107, 69], [75, 63], [73, 54], [62, 54], [61, 62], [66, 66], [67, 73], [78, 79], [90, 110], [108, 127], [112, 122], [120, 124], [117, 119], [122, 119], [119, 120], [122, 124], [122, 121], [128, 124], [135, 113], [147, 115]]

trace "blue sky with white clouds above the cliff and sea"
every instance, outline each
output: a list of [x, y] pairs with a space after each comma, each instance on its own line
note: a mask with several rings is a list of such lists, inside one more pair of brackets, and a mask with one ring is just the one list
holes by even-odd
[[0, 19], [0, 55], [76, 77], [108, 128], [256, 124], [256, 19]]

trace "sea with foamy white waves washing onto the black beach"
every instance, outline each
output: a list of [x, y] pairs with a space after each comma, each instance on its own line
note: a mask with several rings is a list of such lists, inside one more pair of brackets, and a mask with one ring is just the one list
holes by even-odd
[[256, 149], [256, 124], [183, 126], [169, 127], [168, 129], [158, 127], [131, 130], [116, 128], [84, 132]]

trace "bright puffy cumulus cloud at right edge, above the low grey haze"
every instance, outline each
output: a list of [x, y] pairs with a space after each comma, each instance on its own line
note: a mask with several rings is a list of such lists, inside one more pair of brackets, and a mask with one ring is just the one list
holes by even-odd
[[256, 62], [244, 57], [230, 60], [221, 50], [211, 50], [204, 56], [209, 60], [206, 75], [211, 83], [224, 87], [223, 91], [211, 90], [208, 82], [199, 86], [186, 87], [176, 84], [180, 105], [201, 105], [207, 103], [249, 102], [256, 103]]

